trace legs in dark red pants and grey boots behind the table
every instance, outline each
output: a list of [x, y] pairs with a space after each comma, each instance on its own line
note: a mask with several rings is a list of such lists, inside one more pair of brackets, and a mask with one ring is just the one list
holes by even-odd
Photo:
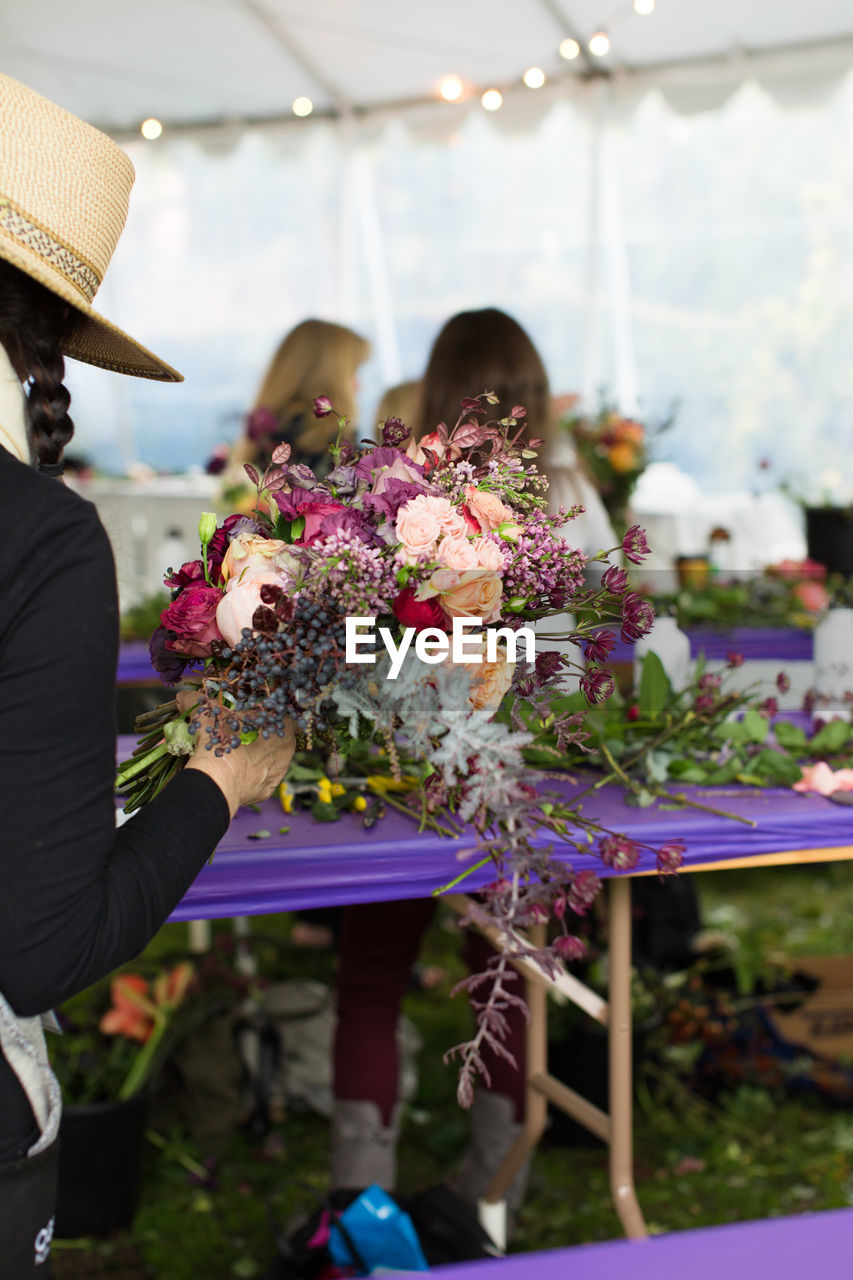
[[[338, 1027], [334, 1042], [332, 1185], [393, 1189], [397, 1172], [397, 1021], [426, 928], [432, 899], [368, 902], [342, 911], [338, 946]], [[464, 937], [471, 972], [485, 969], [493, 950], [474, 932]], [[515, 982], [521, 979], [516, 975]], [[526, 1018], [507, 1010], [506, 1046], [516, 1065], [485, 1050], [488, 1085], [480, 1082], [471, 1107], [471, 1139], [455, 1190], [471, 1206], [484, 1196], [524, 1120]], [[524, 1178], [507, 1197], [517, 1208]]]

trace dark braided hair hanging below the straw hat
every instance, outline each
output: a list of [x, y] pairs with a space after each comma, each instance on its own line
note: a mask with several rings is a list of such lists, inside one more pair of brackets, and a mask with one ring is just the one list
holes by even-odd
[[72, 323], [70, 311], [50, 289], [0, 260], [0, 342], [28, 384], [29, 434], [40, 463], [59, 462], [74, 434], [60, 346]]

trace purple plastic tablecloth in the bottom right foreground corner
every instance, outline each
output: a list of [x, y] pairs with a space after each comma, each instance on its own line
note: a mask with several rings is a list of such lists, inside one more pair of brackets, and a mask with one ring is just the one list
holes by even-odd
[[441, 1267], [441, 1280], [849, 1280], [853, 1210]]

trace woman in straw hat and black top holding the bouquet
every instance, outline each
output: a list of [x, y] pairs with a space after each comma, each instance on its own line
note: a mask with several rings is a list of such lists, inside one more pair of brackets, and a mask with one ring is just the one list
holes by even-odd
[[41, 1015], [136, 955], [292, 742], [202, 751], [118, 832], [113, 558], [56, 484], [73, 424], [64, 356], [181, 375], [92, 300], [133, 166], [108, 137], [0, 74], [0, 1271], [45, 1276], [59, 1088]]

